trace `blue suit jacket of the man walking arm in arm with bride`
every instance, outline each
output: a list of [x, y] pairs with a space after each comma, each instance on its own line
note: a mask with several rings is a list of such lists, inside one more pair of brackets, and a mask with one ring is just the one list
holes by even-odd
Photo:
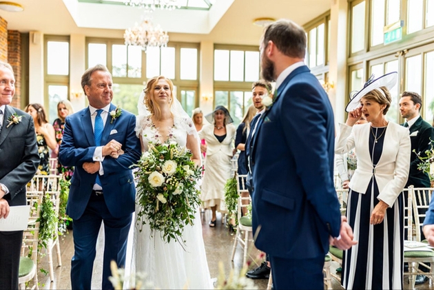
[[[113, 104], [110, 105], [110, 111], [115, 108]], [[117, 159], [105, 156], [101, 163], [104, 174], [100, 176], [100, 180], [105, 204], [110, 214], [115, 218], [120, 218], [134, 211], [136, 188], [130, 166], [137, 163], [140, 158], [141, 145], [136, 137], [136, 132], [134, 132], [136, 117], [133, 114], [123, 110], [121, 116], [112, 123], [110, 121], [111, 117], [107, 116], [101, 145], [114, 139], [122, 144], [125, 154]], [[81, 217], [90, 194], [92, 194], [97, 173], [88, 174], [85, 172], [83, 163], [93, 162], [95, 148], [89, 108], [66, 117], [63, 140], [59, 149], [59, 161], [63, 166], [75, 167], [66, 209], [66, 214], [73, 219]]]

